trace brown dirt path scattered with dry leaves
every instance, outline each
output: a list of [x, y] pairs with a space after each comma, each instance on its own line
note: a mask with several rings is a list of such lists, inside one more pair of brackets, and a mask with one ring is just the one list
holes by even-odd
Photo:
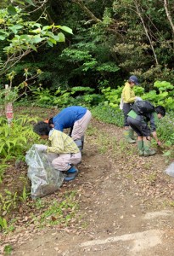
[[81, 172], [64, 187], [80, 191], [84, 226], [19, 234], [12, 254], [173, 256], [174, 183], [165, 168], [162, 154], [139, 157], [120, 128], [93, 120]]

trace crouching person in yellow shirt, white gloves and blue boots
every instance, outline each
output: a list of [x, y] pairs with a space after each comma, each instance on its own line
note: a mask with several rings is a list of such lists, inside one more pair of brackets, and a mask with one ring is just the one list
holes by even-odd
[[74, 165], [81, 162], [81, 152], [73, 139], [42, 121], [34, 125], [33, 131], [42, 139], [49, 140], [51, 144], [50, 147], [38, 144], [36, 149], [48, 153], [53, 167], [65, 173], [65, 181], [74, 179], [78, 173]]

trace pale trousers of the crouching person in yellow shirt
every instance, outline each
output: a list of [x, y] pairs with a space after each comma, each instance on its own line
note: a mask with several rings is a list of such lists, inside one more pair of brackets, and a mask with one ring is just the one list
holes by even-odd
[[77, 165], [81, 162], [81, 152], [75, 154], [49, 153], [48, 159], [55, 169], [65, 172], [70, 169], [70, 165]]

